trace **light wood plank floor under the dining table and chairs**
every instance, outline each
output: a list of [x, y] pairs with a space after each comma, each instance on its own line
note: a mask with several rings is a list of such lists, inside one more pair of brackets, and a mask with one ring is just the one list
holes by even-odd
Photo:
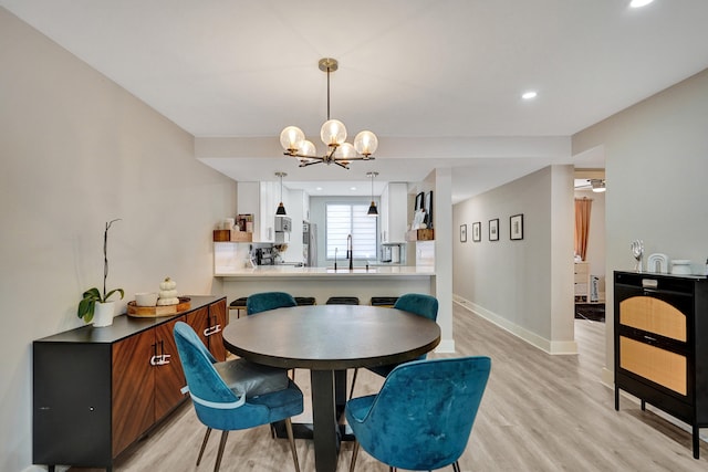
[[[614, 394], [600, 382], [604, 365], [604, 324], [576, 321], [576, 356], [550, 356], [457, 305], [455, 356], [492, 359], [490, 380], [467, 450], [460, 459], [471, 471], [701, 471], [708, 447], [693, 459], [690, 434], [633, 398], [614, 410]], [[436, 355], [430, 357], [451, 357]], [[295, 381], [310, 398], [309, 373]], [[360, 371], [356, 396], [377, 391], [383, 379]], [[310, 418], [310, 409], [294, 421]], [[186, 403], [116, 463], [116, 472], [211, 471], [217, 439], [195, 466], [204, 427]], [[705, 430], [704, 430], [705, 431]], [[296, 441], [303, 472], [314, 471], [312, 443]], [[347, 471], [351, 444], [344, 443], [337, 470]], [[387, 471], [364, 451], [357, 471]], [[87, 471], [72, 469], [72, 471]], [[285, 440], [272, 440], [268, 427], [229, 434], [221, 471], [293, 471]], [[451, 470], [448, 468], [446, 470]]]

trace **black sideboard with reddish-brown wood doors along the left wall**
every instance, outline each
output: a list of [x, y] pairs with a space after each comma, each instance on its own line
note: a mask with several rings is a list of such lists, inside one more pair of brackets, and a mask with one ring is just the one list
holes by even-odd
[[32, 462], [105, 468], [186, 397], [173, 337], [191, 325], [217, 360], [226, 298], [192, 296], [174, 316], [121, 315], [106, 327], [82, 326], [32, 344]]

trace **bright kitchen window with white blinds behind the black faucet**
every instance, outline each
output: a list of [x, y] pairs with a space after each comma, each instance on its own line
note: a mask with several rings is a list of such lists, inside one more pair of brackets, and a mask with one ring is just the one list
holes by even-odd
[[378, 218], [369, 217], [367, 203], [326, 203], [326, 258], [346, 259], [346, 239], [352, 234], [354, 259], [376, 259]]

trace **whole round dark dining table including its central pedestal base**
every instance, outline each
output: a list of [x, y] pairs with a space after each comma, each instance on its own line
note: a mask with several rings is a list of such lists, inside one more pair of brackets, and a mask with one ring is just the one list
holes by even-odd
[[310, 370], [312, 423], [293, 424], [296, 438], [314, 442], [315, 470], [336, 470], [346, 369], [413, 360], [440, 342], [437, 323], [414, 313], [368, 305], [277, 308], [231, 321], [226, 348], [253, 363]]

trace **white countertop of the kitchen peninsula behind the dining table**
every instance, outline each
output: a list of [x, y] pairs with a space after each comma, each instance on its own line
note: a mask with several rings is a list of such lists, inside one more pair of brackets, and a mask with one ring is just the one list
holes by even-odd
[[369, 265], [354, 266], [337, 264], [334, 268], [298, 268], [293, 265], [259, 265], [249, 269], [221, 269], [214, 274], [217, 277], [429, 277], [435, 275], [431, 266], [410, 265]]

